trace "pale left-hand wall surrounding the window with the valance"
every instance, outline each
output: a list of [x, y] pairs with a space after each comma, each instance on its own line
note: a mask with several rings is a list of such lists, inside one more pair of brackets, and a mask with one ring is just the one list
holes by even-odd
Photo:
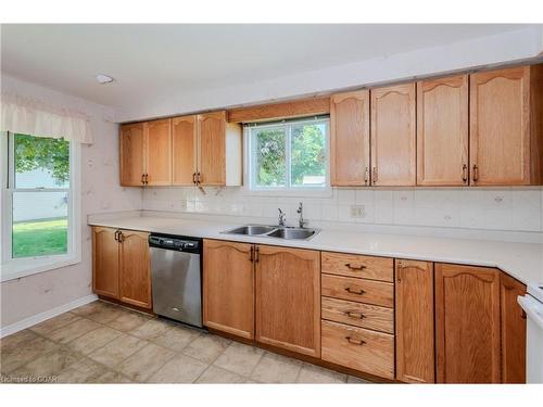
[[4, 75], [1, 80], [3, 90], [43, 99], [89, 115], [94, 136], [92, 145], [81, 148], [83, 260], [74, 266], [2, 282], [0, 326], [5, 327], [91, 293], [91, 236], [87, 215], [139, 209], [141, 190], [119, 187], [118, 125], [111, 122], [111, 109]]

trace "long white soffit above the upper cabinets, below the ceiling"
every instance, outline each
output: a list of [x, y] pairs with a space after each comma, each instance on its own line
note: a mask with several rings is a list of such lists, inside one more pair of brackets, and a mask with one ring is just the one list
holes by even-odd
[[127, 100], [115, 118], [123, 123], [224, 109], [541, 58], [542, 38], [542, 26], [529, 27], [268, 80]]

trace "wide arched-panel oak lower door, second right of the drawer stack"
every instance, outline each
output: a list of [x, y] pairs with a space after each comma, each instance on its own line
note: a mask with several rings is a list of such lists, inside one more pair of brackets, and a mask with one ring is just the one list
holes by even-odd
[[500, 383], [500, 272], [435, 265], [438, 383]]

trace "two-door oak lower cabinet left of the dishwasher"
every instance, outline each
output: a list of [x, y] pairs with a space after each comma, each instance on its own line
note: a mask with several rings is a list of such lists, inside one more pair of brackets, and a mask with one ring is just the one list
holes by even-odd
[[149, 233], [92, 228], [92, 291], [151, 309]]

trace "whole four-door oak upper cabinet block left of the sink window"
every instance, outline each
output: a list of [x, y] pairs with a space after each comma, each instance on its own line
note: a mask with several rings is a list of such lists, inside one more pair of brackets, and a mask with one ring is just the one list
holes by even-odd
[[121, 185], [241, 186], [241, 126], [225, 111], [123, 125]]

